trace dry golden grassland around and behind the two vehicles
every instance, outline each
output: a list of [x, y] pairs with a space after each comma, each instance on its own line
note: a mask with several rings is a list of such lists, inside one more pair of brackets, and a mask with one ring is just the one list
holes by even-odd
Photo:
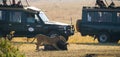
[[[77, 19], [81, 19], [83, 6], [95, 6], [95, 0], [28, 0], [30, 5], [44, 11], [50, 20], [70, 23], [73, 19], [75, 25]], [[107, 0], [108, 1], [108, 0]], [[110, 2], [111, 0], [109, 0]], [[119, 2], [120, 3], [120, 2]], [[118, 4], [119, 4], [118, 3]], [[35, 50], [35, 44], [26, 42], [25, 38], [13, 39], [13, 43], [27, 57], [120, 57], [120, 43], [98, 44], [91, 37], [81, 37], [76, 33], [70, 37], [67, 51], [39, 51]], [[77, 43], [77, 44], [76, 44]]]

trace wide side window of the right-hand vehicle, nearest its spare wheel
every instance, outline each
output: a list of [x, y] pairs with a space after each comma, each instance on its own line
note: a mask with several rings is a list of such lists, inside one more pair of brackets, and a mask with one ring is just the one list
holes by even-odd
[[112, 12], [88, 12], [88, 22], [112, 22]]

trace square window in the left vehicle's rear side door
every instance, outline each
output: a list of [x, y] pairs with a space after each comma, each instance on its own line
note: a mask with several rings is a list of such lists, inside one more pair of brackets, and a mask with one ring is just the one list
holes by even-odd
[[10, 12], [10, 22], [21, 23], [21, 12]]

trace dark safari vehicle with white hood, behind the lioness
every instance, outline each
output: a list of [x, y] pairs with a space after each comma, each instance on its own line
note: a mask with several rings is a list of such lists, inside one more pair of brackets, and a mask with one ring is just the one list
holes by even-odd
[[73, 25], [50, 21], [43, 11], [35, 7], [17, 5], [0, 5], [0, 36], [12, 40], [13, 37], [34, 37], [44, 34], [50, 37], [62, 35], [68, 37], [74, 34]]

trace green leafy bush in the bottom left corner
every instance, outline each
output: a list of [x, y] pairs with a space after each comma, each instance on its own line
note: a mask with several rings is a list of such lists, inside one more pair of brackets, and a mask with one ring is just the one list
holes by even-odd
[[10, 41], [0, 38], [0, 57], [25, 57], [25, 54], [21, 54]]

